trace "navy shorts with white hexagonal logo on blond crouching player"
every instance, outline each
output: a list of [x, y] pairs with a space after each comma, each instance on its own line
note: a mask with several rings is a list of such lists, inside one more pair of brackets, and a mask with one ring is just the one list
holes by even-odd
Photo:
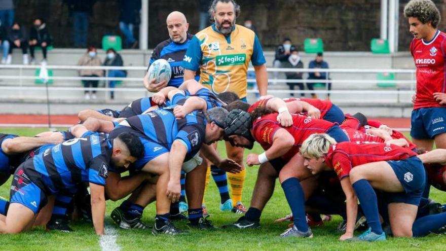
[[388, 203], [406, 203], [418, 206], [426, 184], [423, 162], [417, 157], [387, 161], [404, 188], [402, 193], [385, 193]]

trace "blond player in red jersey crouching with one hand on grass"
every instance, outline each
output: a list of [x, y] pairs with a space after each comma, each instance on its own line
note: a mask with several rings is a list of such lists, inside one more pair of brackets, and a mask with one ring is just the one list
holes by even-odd
[[347, 198], [347, 230], [341, 240], [353, 238], [357, 199], [369, 229], [355, 240], [386, 240], [374, 189], [382, 191], [388, 202], [390, 226], [395, 237], [424, 236], [446, 224], [446, 213], [415, 220], [425, 185], [423, 162], [441, 161], [444, 152], [432, 151], [417, 156], [407, 148], [389, 143], [337, 144], [327, 134], [313, 134], [304, 141], [300, 154], [313, 174], [334, 170], [340, 178]]

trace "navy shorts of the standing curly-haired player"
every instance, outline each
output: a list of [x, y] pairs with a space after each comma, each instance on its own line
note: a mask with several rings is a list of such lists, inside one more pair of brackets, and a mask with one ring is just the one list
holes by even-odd
[[446, 132], [446, 107], [426, 107], [412, 111], [411, 136], [432, 139]]

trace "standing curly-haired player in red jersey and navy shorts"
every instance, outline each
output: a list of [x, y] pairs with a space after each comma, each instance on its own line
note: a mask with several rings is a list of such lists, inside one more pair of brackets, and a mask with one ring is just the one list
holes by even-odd
[[446, 92], [446, 34], [437, 29], [440, 12], [430, 0], [413, 0], [404, 16], [414, 35], [411, 54], [417, 67], [417, 93], [412, 111], [414, 144], [428, 151], [446, 148], [446, 106], [435, 97]]

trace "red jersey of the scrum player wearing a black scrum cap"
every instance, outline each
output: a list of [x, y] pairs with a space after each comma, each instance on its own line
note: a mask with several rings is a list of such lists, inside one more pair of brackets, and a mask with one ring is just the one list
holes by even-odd
[[287, 130], [294, 137], [294, 146], [282, 156], [284, 160], [290, 160], [295, 154], [299, 153], [299, 148], [308, 136], [314, 133], [325, 133], [334, 125], [326, 120], [292, 114], [293, 125], [282, 127], [277, 122], [277, 115], [277, 113], [268, 114], [254, 120], [251, 134], [263, 149], [268, 150], [273, 145], [273, 137], [276, 131], [281, 128]]

